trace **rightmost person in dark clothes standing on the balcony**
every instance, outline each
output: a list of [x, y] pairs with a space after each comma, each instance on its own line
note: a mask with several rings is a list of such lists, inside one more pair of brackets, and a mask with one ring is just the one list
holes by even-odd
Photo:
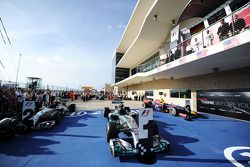
[[230, 23], [231, 34], [239, 34], [242, 30], [244, 30], [245, 26], [246, 22], [244, 18], [239, 18], [238, 15], [234, 15], [234, 21]]

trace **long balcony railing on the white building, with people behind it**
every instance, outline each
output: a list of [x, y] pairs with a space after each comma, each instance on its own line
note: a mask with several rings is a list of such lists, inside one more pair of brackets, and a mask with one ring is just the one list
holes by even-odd
[[151, 71], [181, 57], [203, 50], [250, 29], [250, 3], [222, 18], [204, 30], [185, 39], [176, 47], [136, 67], [136, 73]]

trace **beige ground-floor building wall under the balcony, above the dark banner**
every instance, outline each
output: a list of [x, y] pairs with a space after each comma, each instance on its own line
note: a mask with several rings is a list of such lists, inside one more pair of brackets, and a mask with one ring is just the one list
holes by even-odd
[[[244, 88], [250, 88], [250, 67], [184, 79], [159, 79], [126, 87], [128, 97], [132, 99], [134, 99], [132, 92], [142, 95], [145, 90], [152, 90], [154, 91], [153, 99], [163, 98], [167, 103], [184, 106], [185, 100], [190, 100], [191, 109], [194, 111], [197, 111], [197, 90]], [[171, 89], [191, 89], [191, 99], [171, 98]], [[159, 95], [159, 92], [163, 92], [163, 95]]]

